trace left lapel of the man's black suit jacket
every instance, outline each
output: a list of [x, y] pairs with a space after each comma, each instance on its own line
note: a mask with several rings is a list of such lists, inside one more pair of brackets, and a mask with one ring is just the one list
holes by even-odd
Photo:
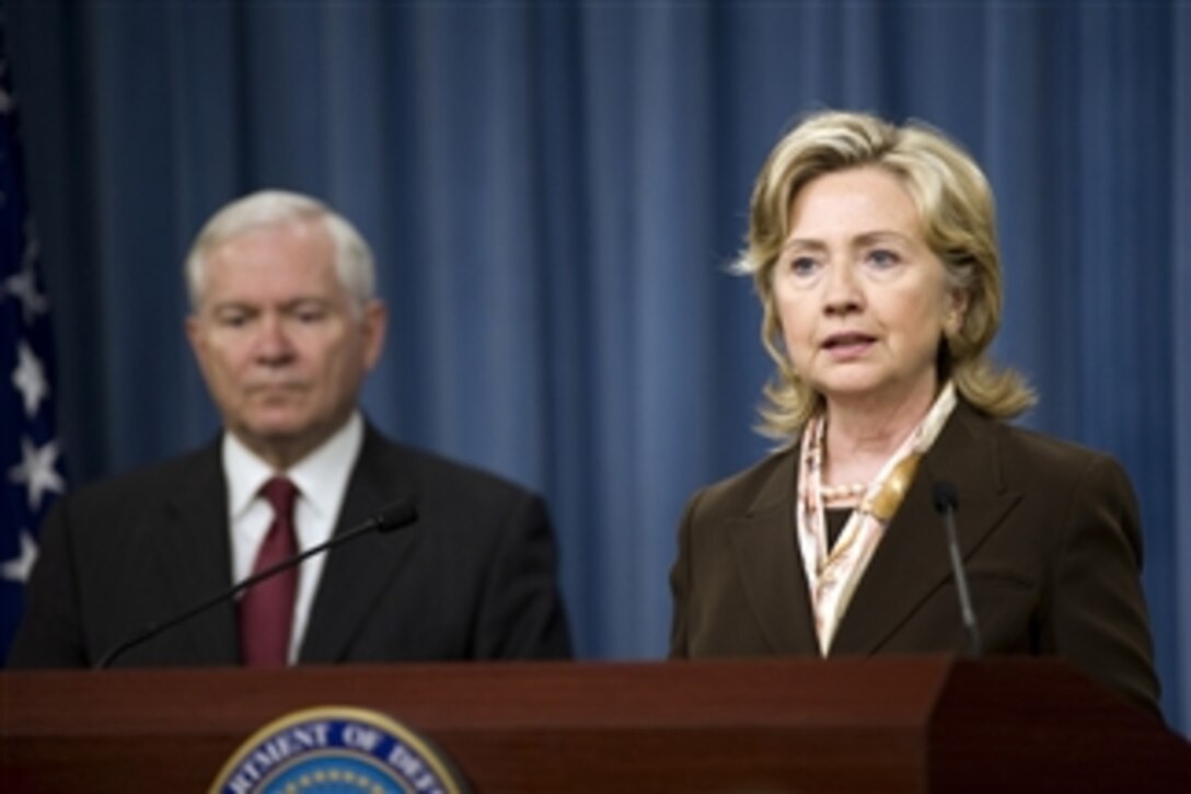
[[[219, 443], [199, 453], [180, 490], [167, 501], [163, 527], [150, 527], [164, 588], [172, 594], [170, 614], [201, 603], [231, 587], [227, 496], [219, 460]], [[238, 664], [239, 640], [232, 600], [206, 609], [170, 629], [188, 634], [193, 650], [186, 658], [199, 664]]]

